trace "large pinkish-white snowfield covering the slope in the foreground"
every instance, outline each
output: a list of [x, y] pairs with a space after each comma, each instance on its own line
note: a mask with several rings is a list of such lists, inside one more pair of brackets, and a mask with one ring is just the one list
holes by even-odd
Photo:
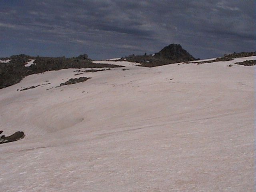
[[1, 89], [0, 130], [26, 134], [0, 145], [1, 191], [253, 192], [255, 67], [234, 64], [251, 59], [99, 61], [125, 67], [58, 88], [77, 72], [49, 71]]

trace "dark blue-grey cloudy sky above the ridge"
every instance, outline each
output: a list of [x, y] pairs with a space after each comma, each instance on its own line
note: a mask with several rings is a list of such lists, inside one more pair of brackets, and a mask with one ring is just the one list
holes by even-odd
[[172, 43], [201, 59], [255, 51], [255, 0], [0, 0], [0, 57], [103, 60]]

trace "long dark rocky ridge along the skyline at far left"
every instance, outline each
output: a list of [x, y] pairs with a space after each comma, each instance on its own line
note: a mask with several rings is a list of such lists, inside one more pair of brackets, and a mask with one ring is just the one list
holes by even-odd
[[[0, 58], [0, 60], [10, 60], [10, 62], [0, 63], [0, 89], [20, 82], [25, 76], [43, 73], [50, 70], [60, 70], [67, 68], [104, 68], [122, 67], [112, 64], [94, 64], [86, 54], [78, 57], [34, 57], [24, 54], [11, 56], [10, 58]], [[35, 60], [34, 64], [26, 67], [29, 60]]]

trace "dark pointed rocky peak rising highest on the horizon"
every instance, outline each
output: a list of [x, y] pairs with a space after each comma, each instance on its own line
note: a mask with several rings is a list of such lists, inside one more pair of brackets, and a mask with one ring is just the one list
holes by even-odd
[[195, 60], [180, 44], [170, 44], [164, 47], [160, 52], [155, 54], [155, 57], [166, 58], [176, 62]]

